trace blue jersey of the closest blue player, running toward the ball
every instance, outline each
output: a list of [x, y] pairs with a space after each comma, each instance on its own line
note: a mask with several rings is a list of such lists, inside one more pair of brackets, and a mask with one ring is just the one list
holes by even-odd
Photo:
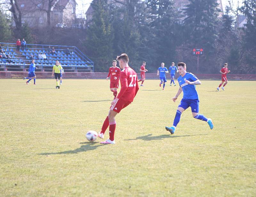
[[186, 72], [184, 77], [180, 76], [177, 80], [183, 91], [183, 99], [199, 99], [198, 94], [196, 92], [196, 86], [185, 83], [186, 80], [191, 82], [198, 80], [194, 74]]

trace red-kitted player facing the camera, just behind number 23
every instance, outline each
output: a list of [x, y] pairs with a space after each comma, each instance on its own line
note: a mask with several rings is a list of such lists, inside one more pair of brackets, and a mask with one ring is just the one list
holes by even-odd
[[[117, 88], [119, 87], [119, 76], [120, 76], [120, 68], [116, 66], [116, 60], [112, 61], [112, 67], [109, 68], [108, 77], [110, 76], [110, 91], [113, 92], [114, 99], [117, 95]], [[108, 80], [108, 77], [106, 80]]]

